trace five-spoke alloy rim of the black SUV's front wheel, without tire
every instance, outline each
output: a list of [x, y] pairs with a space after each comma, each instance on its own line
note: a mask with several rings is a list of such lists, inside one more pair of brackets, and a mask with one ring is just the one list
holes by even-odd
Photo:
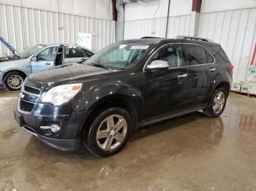
[[113, 114], [103, 120], [97, 130], [97, 144], [105, 150], [116, 149], [127, 136], [127, 121], [118, 114]]

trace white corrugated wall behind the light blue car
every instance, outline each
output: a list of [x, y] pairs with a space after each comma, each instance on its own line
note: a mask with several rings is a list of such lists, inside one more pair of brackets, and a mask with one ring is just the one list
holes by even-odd
[[[27, 1], [29, 0], [23, 0], [22, 5], [26, 5]], [[18, 4], [20, 1], [12, 0], [8, 2]], [[78, 3], [78, 0], [74, 0], [74, 2]], [[42, 4], [36, 5], [37, 7], [41, 7]], [[31, 7], [36, 7], [36, 5], [30, 4]], [[83, 15], [56, 12], [54, 11], [56, 10], [54, 8], [55, 6], [52, 5], [54, 4], [52, 3], [48, 4], [48, 7], [42, 7], [44, 9], [34, 9], [0, 4], [0, 36], [7, 39], [18, 51], [39, 43], [59, 42], [75, 44], [75, 36], [78, 32], [92, 34], [96, 32], [97, 35], [93, 36], [92, 43], [94, 50], [100, 50], [116, 41], [115, 21], [112, 18], [86, 17], [83, 16], [85, 15], [84, 12]], [[73, 5], [74, 7], [78, 7], [78, 4], [75, 5], [74, 3]], [[101, 5], [98, 4], [98, 6], [99, 8], [97, 9], [102, 9], [101, 12], [104, 12], [103, 9], [105, 9], [106, 15], [108, 15], [110, 10], [112, 12], [112, 7], [111, 9], [103, 7], [104, 3]], [[74, 11], [75, 8], [72, 10]], [[75, 12], [78, 13], [79, 10]], [[4, 45], [0, 44], [0, 56], [9, 54], [10, 52]]]

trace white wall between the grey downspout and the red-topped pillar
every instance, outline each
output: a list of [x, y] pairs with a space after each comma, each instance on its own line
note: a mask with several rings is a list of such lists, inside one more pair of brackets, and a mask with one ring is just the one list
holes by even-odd
[[[192, 34], [192, 0], [170, 1], [167, 37]], [[125, 5], [124, 39], [142, 36], [165, 37], [168, 0]]]

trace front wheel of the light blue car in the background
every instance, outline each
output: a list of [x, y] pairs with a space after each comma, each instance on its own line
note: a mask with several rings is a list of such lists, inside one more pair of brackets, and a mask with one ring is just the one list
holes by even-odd
[[20, 90], [25, 78], [20, 71], [10, 71], [4, 75], [4, 86], [11, 91]]

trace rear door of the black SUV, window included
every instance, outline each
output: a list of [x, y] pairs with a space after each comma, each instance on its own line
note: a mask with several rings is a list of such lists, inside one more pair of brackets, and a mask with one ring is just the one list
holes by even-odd
[[217, 74], [213, 56], [199, 44], [184, 44], [187, 59], [187, 106], [205, 104], [211, 96], [211, 85]]

